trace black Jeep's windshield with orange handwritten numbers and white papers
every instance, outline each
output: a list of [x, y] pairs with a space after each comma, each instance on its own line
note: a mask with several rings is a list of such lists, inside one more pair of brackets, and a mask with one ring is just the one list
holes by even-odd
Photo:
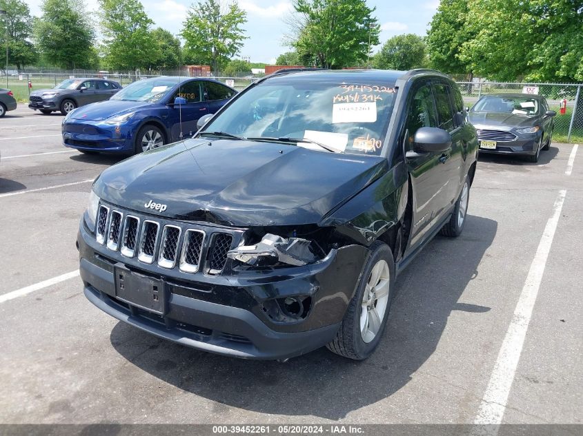
[[261, 83], [241, 94], [206, 132], [241, 138], [294, 138], [301, 147], [376, 154], [393, 111], [396, 88], [380, 83]]

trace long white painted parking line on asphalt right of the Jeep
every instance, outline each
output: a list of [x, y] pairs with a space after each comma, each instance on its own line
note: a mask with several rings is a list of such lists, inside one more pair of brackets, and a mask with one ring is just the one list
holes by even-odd
[[526, 276], [524, 287], [518, 298], [512, 320], [506, 331], [504, 342], [500, 347], [500, 353], [498, 353], [488, 387], [484, 397], [482, 397], [482, 403], [474, 421], [474, 424], [479, 426], [494, 424], [493, 427], [488, 427], [490, 430], [488, 434], [490, 435], [497, 433], [497, 426], [502, 423], [502, 417], [504, 417], [504, 411], [506, 411], [508, 394], [520, 360], [528, 324], [531, 322], [531, 315], [544, 268], [546, 267], [546, 259], [549, 257], [549, 251], [551, 251], [565, 196], [566, 190], [559, 191], [553, 206], [553, 216], [546, 222], [535, 258], [531, 263], [531, 268], [528, 270], [528, 276]]

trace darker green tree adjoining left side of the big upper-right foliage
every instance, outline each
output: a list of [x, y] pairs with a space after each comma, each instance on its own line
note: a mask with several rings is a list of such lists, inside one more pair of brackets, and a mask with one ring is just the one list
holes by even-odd
[[475, 29], [467, 21], [468, 0], [442, 0], [439, 3], [426, 38], [433, 68], [447, 74], [471, 73], [469, 62], [460, 59], [462, 44], [475, 34]]

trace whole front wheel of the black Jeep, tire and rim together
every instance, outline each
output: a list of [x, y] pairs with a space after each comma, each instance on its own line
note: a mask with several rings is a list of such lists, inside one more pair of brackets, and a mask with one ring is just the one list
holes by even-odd
[[[336, 338], [326, 345], [333, 353], [353, 360], [364, 360], [377, 348], [386, 326], [395, 289], [395, 264], [391, 249], [383, 242], [376, 241], [370, 246], [370, 250], [373, 253], [366, 262]], [[373, 289], [383, 283], [382, 287], [378, 287], [379, 292], [382, 289], [380, 296], [375, 292], [370, 293], [370, 280], [376, 281]], [[370, 320], [376, 320], [374, 325]]]

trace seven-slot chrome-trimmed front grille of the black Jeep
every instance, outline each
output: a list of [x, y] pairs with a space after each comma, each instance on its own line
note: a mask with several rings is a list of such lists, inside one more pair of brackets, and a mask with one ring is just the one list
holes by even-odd
[[[150, 269], [177, 269], [187, 274], [217, 275], [224, 272], [227, 252], [240, 242], [244, 232], [244, 229], [140, 215], [99, 205], [97, 242], [107, 247], [115, 262], [134, 267], [150, 264]], [[136, 260], [130, 261], [132, 258]], [[164, 274], [164, 271], [157, 273]]]

